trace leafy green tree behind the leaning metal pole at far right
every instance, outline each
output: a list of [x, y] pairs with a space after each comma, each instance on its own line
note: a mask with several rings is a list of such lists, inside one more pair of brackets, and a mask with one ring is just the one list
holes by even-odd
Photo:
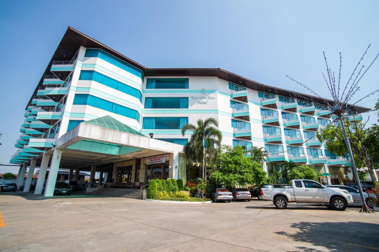
[[[350, 139], [353, 152], [354, 162], [357, 168], [366, 166], [371, 178], [375, 179], [375, 169], [379, 164], [379, 128], [376, 124], [366, 129], [365, 124], [359, 121], [344, 121], [346, 133]], [[338, 156], [344, 156], [348, 153], [345, 137], [342, 127], [330, 124], [322, 131], [319, 131], [317, 137], [320, 142], [325, 142], [326, 149]], [[374, 183], [374, 185], [376, 185]]]

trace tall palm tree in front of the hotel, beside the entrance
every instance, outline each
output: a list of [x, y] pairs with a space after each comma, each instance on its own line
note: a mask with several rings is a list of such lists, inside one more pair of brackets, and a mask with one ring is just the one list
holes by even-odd
[[[184, 137], [186, 131], [193, 131], [188, 142], [184, 146], [186, 156], [195, 162], [202, 162], [202, 178], [207, 177], [207, 154], [208, 161], [214, 162], [217, 149], [221, 147], [222, 135], [218, 128], [218, 121], [214, 117], [198, 119], [197, 125], [187, 123], [182, 127]], [[215, 148], [216, 147], [216, 148]]]

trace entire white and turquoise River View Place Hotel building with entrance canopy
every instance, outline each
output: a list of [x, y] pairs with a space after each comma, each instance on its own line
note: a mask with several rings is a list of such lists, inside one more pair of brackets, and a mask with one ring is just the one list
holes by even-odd
[[[362, 120], [367, 110], [355, 106], [346, 116]], [[136, 185], [196, 178], [198, 164], [183, 154], [191, 132], [183, 137], [180, 129], [208, 117], [219, 121], [223, 144], [265, 147], [268, 174], [291, 160], [329, 173], [325, 184], [352, 179], [349, 157], [328, 152], [315, 137], [334, 119], [323, 99], [220, 68], [147, 68], [71, 27], [24, 117], [10, 162], [20, 164], [19, 177], [49, 167], [45, 196], [53, 194], [58, 169], [70, 170], [69, 179], [91, 171], [93, 182], [97, 171], [110, 183]], [[36, 194], [44, 184], [40, 177]]]

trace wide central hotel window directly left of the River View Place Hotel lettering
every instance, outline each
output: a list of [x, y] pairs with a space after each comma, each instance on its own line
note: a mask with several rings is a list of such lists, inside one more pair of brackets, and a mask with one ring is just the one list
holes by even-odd
[[188, 97], [147, 97], [145, 109], [188, 109]]

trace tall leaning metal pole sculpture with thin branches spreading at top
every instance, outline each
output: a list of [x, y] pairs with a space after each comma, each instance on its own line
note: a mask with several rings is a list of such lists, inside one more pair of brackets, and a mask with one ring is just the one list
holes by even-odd
[[[358, 184], [358, 190], [360, 193], [360, 197], [362, 199], [363, 205], [362, 205], [362, 208], [359, 212], [363, 211], [366, 213], [370, 213], [370, 212], [372, 212], [372, 210], [366, 205], [365, 198], [363, 196], [362, 185], [360, 183], [358, 172], [357, 172], [357, 167], [356, 167], [356, 164], [354, 162], [350, 141], [349, 141], [348, 135], [346, 134], [345, 124], [343, 123], [343, 115], [349, 109], [354, 107], [358, 102], [364, 100], [368, 96], [373, 95], [374, 93], [379, 91], [379, 90], [376, 90], [376, 91], [374, 91], [368, 95], [365, 95], [363, 98], [357, 100], [355, 103], [349, 104], [349, 101], [353, 98], [353, 96], [356, 94], [356, 92], [358, 90], [360, 90], [360, 87], [358, 86], [359, 81], [362, 79], [363, 75], [365, 75], [367, 70], [371, 67], [371, 65], [374, 63], [374, 61], [379, 56], [379, 53], [378, 53], [376, 55], [376, 57], [374, 58], [374, 60], [371, 62], [371, 64], [365, 70], [364, 70], [365, 65], [362, 64], [362, 67], [359, 69], [359, 72], [356, 73], [357, 69], [359, 68], [359, 65], [361, 64], [361, 62], [363, 60], [363, 57], [365, 56], [365, 54], [367, 54], [367, 50], [368, 50], [368, 48], [370, 48], [370, 45], [368, 45], [366, 51], [363, 53], [362, 57], [358, 61], [358, 64], [355, 67], [355, 69], [353, 70], [353, 72], [352, 72], [350, 78], [348, 79], [348, 82], [346, 83], [345, 87], [343, 87], [343, 85], [341, 86], [341, 66], [342, 66], [341, 53], [340, 53], [340, 70], [339, 70], [339, 74], [338, 74], [338, 81], [336, 81], [334, 72], [332, 72], [330, 70], [330, 68], [327, 64], [327, 61], [326, 61], [325, 52], [323, 52], [325, 64], [326, 64], [326, 73], [327, 73], [327, 77], [325, 76], [324, 73], [323, 73], [323, 77], [324, 77], [324, 80], [326, 82], [326, 86], [328, 87], [328, 90], [329, 90], [330, 94], [332, 95], [332, 101], [325, 100], [324, 98], [319, 96], [317, 93], [313, 92], [313, 90], [311, 90], [309, 87], [303, 85], [302, 83], [296, 81], [295, 79], [291, 78], [288, 75], [286, 76], [287, 78], [291, 79], [292, 81], [298, 83], [302, 87], [304, 87], [307, 90], [309, 90], [310, 92], [312, 92], [318, 98], [322, 99], [328, 105], [328, 110], [330, 110], [330, 112], [338, 118], [338, 120], [341, 124], [343, 134], [345, 135], [345, 143], [346, 143], [346, 147], [348, 149], [349, 155], [351, 157], [352, 170], [353, 170], [354, 176], [355, 176], [357, 184]], [[363, 70], [364, 70], [364, 72], [363, 72]], [[356, 76], [353, 80], [354, 75], [356, 75]], [[341, 87], [343, 88], [343, 90], [341, 90]], [[298, 94], [296, 94], [296, 95], [298, 95]], [[301, 96], [301, 95], [298, 95], [298, 96]], [[307, 99], [307, 100], [309, 100], [309, 99]]]

